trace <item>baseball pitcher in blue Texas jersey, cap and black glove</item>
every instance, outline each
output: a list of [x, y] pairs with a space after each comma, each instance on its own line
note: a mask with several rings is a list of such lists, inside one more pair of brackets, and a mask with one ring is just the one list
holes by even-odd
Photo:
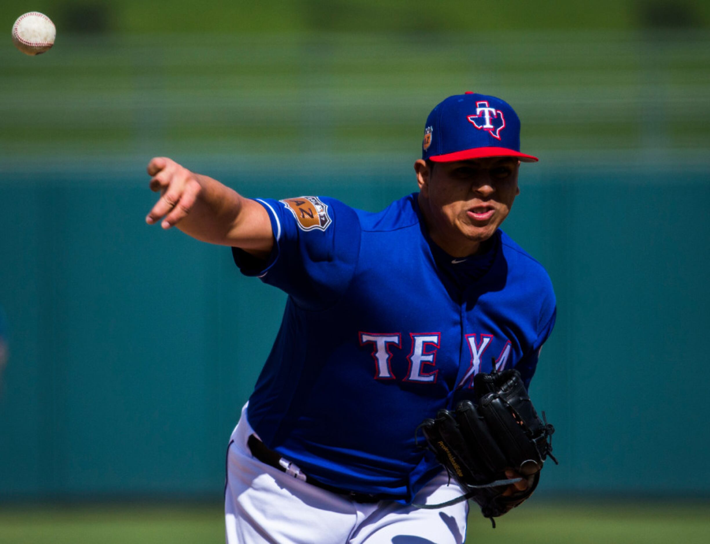
[[229, 544], [460, 544], [466, 499], [492, 520], [530, 496], [552, 426], [527, 388], [555, 294], [500, 226], [535, 161], [510, 105], [471, 92], [432, 110], [418, 191], [376, 213], [151, 160], [148, 223], [288, 294], [229, 440]]

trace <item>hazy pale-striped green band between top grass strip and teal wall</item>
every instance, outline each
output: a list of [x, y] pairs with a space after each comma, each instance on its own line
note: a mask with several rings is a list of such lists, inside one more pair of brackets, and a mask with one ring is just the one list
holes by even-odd
[[533, 155], [658, 157], [710, 146], [708, 89], [706, 30], [62, 35], [40, 57], [0, 48], [0, 161], [411, 157], [432, 106], [466, 90], [514, 104]]

